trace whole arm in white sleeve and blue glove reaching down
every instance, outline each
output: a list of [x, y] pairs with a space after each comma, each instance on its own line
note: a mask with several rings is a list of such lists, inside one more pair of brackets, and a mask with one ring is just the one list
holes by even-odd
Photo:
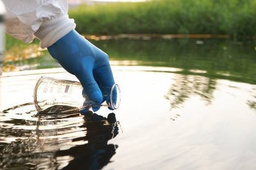
[[[6, 7], [6, 31], [30, 43], [35, 37], [69, 73], [76, 75], [85, 93], [97, 103], [109, 100], [114, 78], [108, 55], [77, 33], [68, 18], [67, 0], [3, 0]], [[99, 107], [93, 107], [98, 111]]]

